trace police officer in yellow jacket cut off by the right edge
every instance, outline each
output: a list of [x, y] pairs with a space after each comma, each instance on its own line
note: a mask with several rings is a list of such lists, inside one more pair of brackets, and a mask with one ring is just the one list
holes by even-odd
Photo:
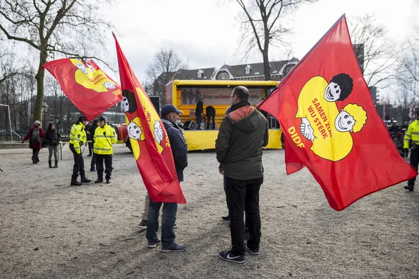
[[[406, 134], [404, 135], [403, 148], [405, 152], [409, 152], [409, 142], [411, 141], [411, 158], [410, 163], [412, 167], [418, 170], [419, 164], [419, 111], [416, 114], [416, 120], [413, 121], [407, 128]], [[407, 186], [404, 186], [406, 190], [413, 191], [415, 186], [416, 176], [413, 179], [407, 181]]]

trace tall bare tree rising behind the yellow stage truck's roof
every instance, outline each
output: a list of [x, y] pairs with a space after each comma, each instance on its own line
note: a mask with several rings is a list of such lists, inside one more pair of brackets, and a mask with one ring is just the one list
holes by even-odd
[[263, 57], [265, 80], [271, 80], [269, 65], [270, 45], [286, 45], [285, 37], [291, 33], [286, 27], [284, 16], [303, 3], [316, 0], [235, 0], [242, 8], [242, 40], [245, 45], [244, 56], [257, 49]]

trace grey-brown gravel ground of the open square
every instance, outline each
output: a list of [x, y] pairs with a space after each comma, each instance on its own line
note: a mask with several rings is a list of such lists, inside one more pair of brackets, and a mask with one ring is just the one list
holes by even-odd
[[112, 183], [76, 187], [68, 146], [58, 169], [46, 149], [38, 165], [0, 150], [0, 278], [419, 278], [418, 192], [400, 184], [337, 212], [307, 169], [286, 176], [284, 151], [263, 156], [260, 256], [240, 265], [218, 256], [230, 234], [214, 152], [189, 153], [175, 229], [187, 250], [163, 253], [136, 227], [146, 191], [124, 146]]

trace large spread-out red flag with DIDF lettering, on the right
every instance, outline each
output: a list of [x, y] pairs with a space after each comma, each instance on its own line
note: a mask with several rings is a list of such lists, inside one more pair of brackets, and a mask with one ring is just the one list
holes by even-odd
[[376, 112], [344, 15], [260, 109], [281, 123], [287, 173], [305, 165], [335, 210], [417, 174]]

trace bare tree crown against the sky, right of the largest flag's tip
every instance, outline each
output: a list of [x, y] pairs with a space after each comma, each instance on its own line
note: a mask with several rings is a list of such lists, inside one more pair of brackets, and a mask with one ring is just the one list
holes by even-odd
[[376, 15], [366, 14], [348, 20], [355, 54], [369, 87], [388, 86], [396, 77], [401, 51], [387, 36], [385, 25]]

